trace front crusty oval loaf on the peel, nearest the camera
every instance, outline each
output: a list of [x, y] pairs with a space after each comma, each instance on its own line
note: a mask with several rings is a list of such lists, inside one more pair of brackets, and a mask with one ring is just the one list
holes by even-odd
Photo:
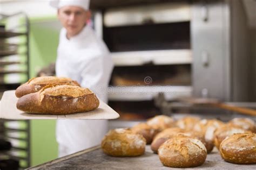
[[22, 96], [17, 109], [33, 114], [73, 114], [95, 110], [99, 100], [91, 90], [78, 86], [44, 87], [36, 93]]

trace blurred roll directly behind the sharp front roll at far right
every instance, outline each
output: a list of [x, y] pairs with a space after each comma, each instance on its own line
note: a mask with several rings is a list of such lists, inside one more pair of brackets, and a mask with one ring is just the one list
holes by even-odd
[[214, 145], [219, 149], [221, 142], [227, 137], [235, 133], [252, 133], [251, 131], [240, 128], [239, 126], [232, 126], [226, 124], [221, 126], [214, 132]]

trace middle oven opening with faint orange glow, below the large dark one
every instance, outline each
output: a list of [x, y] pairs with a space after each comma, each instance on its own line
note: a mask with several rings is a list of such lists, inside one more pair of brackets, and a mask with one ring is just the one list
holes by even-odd
[[[150, 77], [147, 83], [145, 77]], [[114, 67], [112, 86], [191, 86], [191, 65]]]

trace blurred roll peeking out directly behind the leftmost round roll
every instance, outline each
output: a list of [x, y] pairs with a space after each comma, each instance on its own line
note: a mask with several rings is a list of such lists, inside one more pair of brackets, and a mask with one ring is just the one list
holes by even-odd
[[157, 129], [153, 129], [150, 125], [146, 123], [139, 123], [131, 128], [135, 133], [142, 134], [146, 139], [147, 144], [151, 144], [153, 137], [159, 132]]

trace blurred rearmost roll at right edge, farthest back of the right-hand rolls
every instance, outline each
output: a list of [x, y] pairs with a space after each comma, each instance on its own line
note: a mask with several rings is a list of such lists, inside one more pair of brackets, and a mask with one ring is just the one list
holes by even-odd
[[250, 130], [254, 133], [256, 132], [256, 124], [250, 118], [233, 118], [230, 122], [228, 122], [228, 124], [239, 126], [242, 129]]

